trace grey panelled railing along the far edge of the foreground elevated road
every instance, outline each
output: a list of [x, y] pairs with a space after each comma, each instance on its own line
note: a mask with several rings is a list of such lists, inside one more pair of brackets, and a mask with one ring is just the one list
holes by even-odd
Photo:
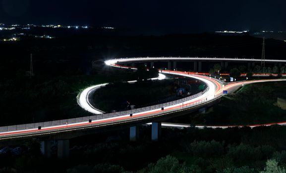
[[[166, 103], [161, 103], [161, 104], [157, 104], [157, 105], [127, 110], [127, 111], [120, 111], [120, 112], [114, 112], [114, 113], [108, 113], [108, 114], [99, 114], [99, 115], [93, 115], [93, 116], [71, 118], [71, 119], [65, 119], [65, 120], [56, 120], [56, 121], [30, 123], [30, 124], [13, 125], [13, 126], [4, 126], [4, 127], [0, 127], [0, 132], [26, 130], [26, 129], [38, 129], [38, 127], [45, 128], [45, 127], [51, 127], [51, 126], [64, 126], [64, 125], [83, 123], [83, 122], [88, 123], [89, 120], [92, 120], [93, 122], [94, 121], [100, 122], [100, 120], [108, 119], [108, 118], [114, 118], [114, 117], [120, 117], [120, 116], [129, 116], [130, 114], [142, 113], [142, 112], [150, 111], [150, 110], [154, 110], [154, 109], [161, 110], [162, 107], [165, 108], [165, 107], [176, 105], [179, 103], [182, 103], [182, 107], [185, 108], [187, 106], [187, 104], [185, 104], [185, 106], [184, 106], [183, 102], [191, 100], [191, 99], [196, 98], [196, 97], [199, 97], [202, 94], [204, 94], [205, 92], [207, 92], [208, 90], [209, 90], [209, 87], [207, 87], [202, 92], [199, 92], [197, 94], [194, 94], [194, 95], [191, 95], [191, 96], [188, 96], [185, 98], [181, 98], [178, 100], [174, 100], [174, 101], [166, 102]], [[199, 104], [199, 102], [195, 103], [195, 104], [194, 103], [189, 104], [189, 107], [194, 106], [196, 104]], [[174, 110], [174, 109], [172, 109], [172, 110]]]

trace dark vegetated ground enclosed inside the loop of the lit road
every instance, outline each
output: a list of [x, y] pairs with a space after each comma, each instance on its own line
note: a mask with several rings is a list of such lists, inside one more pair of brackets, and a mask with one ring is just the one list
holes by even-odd
[[[187, 84], [188, 81], [192, 84]], [[189, 96], [187, 93], [196, 94], [200, 91], [199, 85], [203, 86], [192, 79], [113, 83], [94, 92], [94, 105], [105, 112], [130, 109], [128, 105], [134, 105], [135, 108], [151, 106]], [[178, 88], [185, 89], [182, 95], [178, 95]]]

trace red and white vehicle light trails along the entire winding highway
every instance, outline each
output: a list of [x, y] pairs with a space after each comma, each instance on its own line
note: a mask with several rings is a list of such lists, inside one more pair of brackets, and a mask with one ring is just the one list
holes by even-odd
[[[114, 66], [117, 68], [126, 68], [126, 69], [136, 69], [134, 67], [127, 67], [127, 66], [121, 66], [116, 63], [122, 63], [122, 62], [133, 62], [133, 61], [152, 61], [152, 60], [178, 60], [179, 57], [161, 57], [161, 58], [123, 58], [123, 59], [113, 59], [113, 60], [108, 60], [106, 61], [106, 64], [109, 66]], [[214, 58], [180, 58], [179, 60], [214, 60]], [[229, 60], [228, 58], [216, 58], [215, 60]], [[244, 61], [258, 61], [258, 59], [231, 59], [231, 60], [244, 60]], [[259, 61], [261, 61], [259, 59]], [[267, 61], [267, 60], [265, 60]], [[286, 60], [269, 60], [270, 62], [286, 62]], [[162, 74], [161, 74], [162, 73]], [[255, 81], [243, 81], [243, 82], [234, 82], [234, 83], [223, 83], [217, 79], [210, 78], [208, 76], [202, 76], [199, 74], [193, 74], [193, 73], [187, 73], [187, 72], [180, 72], [180, 71], [169, 71], [169, 70], [162, 70], [161, 75], [159, 76], [160, 79], [163, 79], [164, 77], [162, 76], [163, 74], [172, 74], [172, 75], [178, 75], [178, 76], [185, 76], [185, 77], [190, 77], [194, 78], [197, 80], [200, 80], [204, 82], [208, 87], [208, 89], [202, 94], [199, 95], [198, 97], [192, 98], [190, 100], [186, 100], [184, 102], [180, 102], [178, 104], [170, 105], [164, 107], [164, 110], [160, 109], [152, 109], [149, 111], [141, 111], [141, 112], [135, 112], [133, 113], [133, 116], [128, 115], [120, 115], [120, 116], [110, 116], [109, 118], [102, 118], [102, 119], [91, 119], [91, 121], [80, 121], [80, 122], [74, 122], [74, 123], [67, 123], [68, 120], [60, 120], [60, 122], [66, 122], [66, 124], [60, 124], [60, 125], [52, 125], [52, 126], [44, 126], [40, 130], [37, 128], [24, 128], [24, 129], [12, 129], [11, 130], [4, 130], [1, 131], [1, 129], [5, 129], [5, 127], [0, 127], [0, 139], [3, 138], [12, 138], [12, 137], [22, 137], [22, 136], [32, 136], [32, 135], [42, 135], [42, 134], [50, 134], [53, 132], [61, 132], [61, 131], [66, 131], [66, 130], [80, 130], [88, 127], [100, 127], [100, 126], [112, 126], [114, 124], [121, 124], [121, 123], [128, 123], [128, 122], [133, 122], [133, 121], [139, 121], [142, 119], [150, 119], [154, 116], [161, 116], [165, 114], [171, 114], [174, 111], [178, 110], [184, 110], [186, 108], [192, 108], [193, 106], [200, 106], [203, 105], [205, 102], [209, 103], [212, 101], [217, 100], [217, 98], [220, 98], [220, 96], [223, 95], [223, 90], [231, 90], [231, 89], [236, 89], [240, 86], [243, 85], [248, 85], [251, 83], [258, 83], [258, 82], [272, 82], [272, 81], [286, 81], [286, 79], [275, 79], [275, 80], [255, 80]], [[135, 81], [133, 81], [135, 82]], [[85, 110], [92, 112], [94, 114], [103, 114], [103, 111], [94, 108], [90, 103], [89, 103], [89, 94], [94, 91], [97, 88], [104, 87], [107, 84], [101, 84], [101, 85], [96, 85], [93, 87], [88, 87], [82, 91], [78, 98], [78, 103], [81, 107], [83, 107]], [[98, 115], [100, 116], [100, 115]], [[84, 118], [84, 117], [83, 117]], [[86, 118], [85, 118], [86, 119]], [[43, 122], [47, 123], [47, 122]], [[48, 122], [49, 123], [49, 122]], [[53, 124], [53, 122], [51, 123]], [[274, 124], [280, 124], [280, 125], [285, 125], [286, 123], [274, 123]], [[272, 125], [272, 124], [269, 124]], [[17, 125], [16, 127], [23, 127], [23, 125]], [[202, 125], [203, 126], [203, 125]], [[256, 126], [256, 125], [255, 125]], [[257, 125], [261, 126], [261, 125]], [[266, 126], [266, 125], [265, 125]], [[267, 124], [268, 126], [268, 124]], [[27, 127], [27, 126], [26, 126]], [[203, 126], [205, 127], [205, 126]], [[236, 127], [236, 126], [212, 126], [212, 127], [221, 127], [221, 128], [227, 128], [227, 127]], [[200, 126], [198, 126], [200, 128]], [[7, 127], [8, 129], [8, 127]]]

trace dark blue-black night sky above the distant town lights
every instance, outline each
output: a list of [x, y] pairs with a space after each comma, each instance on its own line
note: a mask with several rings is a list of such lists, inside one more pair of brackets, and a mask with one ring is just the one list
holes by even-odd
[[286, 0], [1, 0], [7, 24], [112, 26], [142, 31], [286, 30]]

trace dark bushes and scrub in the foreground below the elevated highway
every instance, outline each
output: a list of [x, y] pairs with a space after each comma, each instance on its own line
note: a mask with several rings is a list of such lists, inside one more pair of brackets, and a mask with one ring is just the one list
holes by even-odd
[[128, 130], [72, 139], [70, 158], [64, 160], [44, 158], [33, 141], [19, 156], [0, 155], [0, 168], [50, 173], [264, 173], [266, 168], [266, 173], [285, 173], [286, 127], [165, 128], [159, 142], [150, 141], [150, 130], [140, 127], [135, 143], [128, 142]]

